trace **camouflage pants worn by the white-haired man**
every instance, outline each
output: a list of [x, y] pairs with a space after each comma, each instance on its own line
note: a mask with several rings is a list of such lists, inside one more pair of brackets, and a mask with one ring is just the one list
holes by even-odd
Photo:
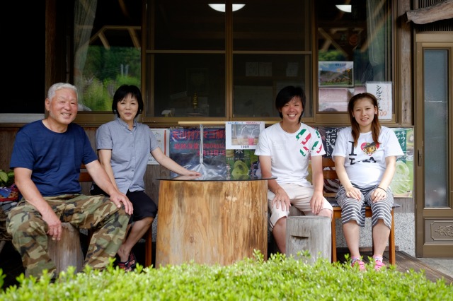
[[[103, 269], [115, 256], [126, 234], [130, 216], [106, 196], [64, 194], [45, 197], [62, 223], [93, 230], [85, 265]], [[47, 269], [55, 277], [55, 263], [47, 253], [48, 225], [34, 206], [22, 199], [6, 220], [14, 247], [21, 254], [26, 276], [39, 278]]]

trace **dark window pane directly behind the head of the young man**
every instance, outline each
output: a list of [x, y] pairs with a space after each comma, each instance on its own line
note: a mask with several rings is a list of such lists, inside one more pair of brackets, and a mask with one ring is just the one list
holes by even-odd
[[[310, 1], [246, 1], [232, 14], [233, 117], [277, 117], [286, 85], [311, 95]], [[307, 98], [304, 117], [312, 116]]]

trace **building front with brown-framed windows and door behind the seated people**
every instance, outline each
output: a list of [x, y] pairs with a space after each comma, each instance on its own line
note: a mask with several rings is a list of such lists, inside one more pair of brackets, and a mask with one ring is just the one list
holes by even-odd
[[[33, 76], [26, 86], [13, 83], [15, 99], [0, 112], [0, 168], [8, 170], [17, 129], [44, 117], [45, 93], [58, 81], [78, 86], [76, 122], [93, 143], [97, 126], [114, 117], [110, 103], [122, 83], [142, 89], [140, 121], [163, 129], [273, 124], [279, 120], [275, 95], [285, 85], [304, 88], [306, 124], [347, 126], [350, 96], [379, 87], [387, 90], [382, 124], [406, 129], [412, 150], [411, 194], [396, 199], [396, 245], [414, 256], [451, 257], [452, 2], [253, 0], [236, 6], [227, 0], [215, 9], [205, 0], [16, 4], [25, 18], [44, 14], [45, 47], [40, 52], [18, 30], [8, 30], [16, 46], [29, 49], [12, 74]], [[28, 30], [28, 36], [42, 34], [39, 26]], [[147, 191], [155, 200], [161, 172], [149, 165]]]

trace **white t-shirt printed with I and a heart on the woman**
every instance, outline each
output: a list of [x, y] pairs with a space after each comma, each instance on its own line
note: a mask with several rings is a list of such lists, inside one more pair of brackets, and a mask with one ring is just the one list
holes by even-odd
[[345, 158], [345, 170], [350, 182], [360, 188], [373, 187], [381, 182], [386, 169], [385, 158], [403, 155], [403, 150], [394, 131], [381, 126], [379, 143], [374, 143], [372, 132], [360, 133], [354, 148], [352, 129], [347, 127], [338, 132], [332, 158], [338, 155]]

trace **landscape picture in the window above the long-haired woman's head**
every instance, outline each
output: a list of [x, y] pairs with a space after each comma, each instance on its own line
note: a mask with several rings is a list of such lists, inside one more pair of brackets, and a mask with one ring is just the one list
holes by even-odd
[[353, 61], [319, 61], [319, 87], [354, 87]]

